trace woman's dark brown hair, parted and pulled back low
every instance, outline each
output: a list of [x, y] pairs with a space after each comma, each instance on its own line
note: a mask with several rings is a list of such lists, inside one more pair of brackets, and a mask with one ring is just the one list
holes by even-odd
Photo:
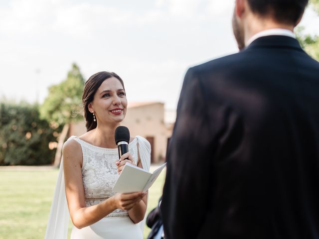
[[114, 72], [101, 71], [92, 75], [84, 84], [84, 90], [82, 95], [82, 105], [84, 110], [85, 127], [86, 131], [90, 131], [96, 128], [97, 121], [93, 120], [93, 114], [89, 111], [88, 105], [93, 101], [96, 91], [99, 89], [101, 84], [111, 77], [117, 78], [124, 88], [124, 83], [121, 77]]

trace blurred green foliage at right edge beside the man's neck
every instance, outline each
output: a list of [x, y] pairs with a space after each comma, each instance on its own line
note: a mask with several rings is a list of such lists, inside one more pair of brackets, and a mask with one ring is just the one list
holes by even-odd
[[[319, 0], [310, 0], [310, 7], [312, 7], [319, 15]], [[303, 31], [303, 26], [297, 28], [297, 39], [309, 55], [319, 60], [319, 36], [305, 35], [303, 34]]]

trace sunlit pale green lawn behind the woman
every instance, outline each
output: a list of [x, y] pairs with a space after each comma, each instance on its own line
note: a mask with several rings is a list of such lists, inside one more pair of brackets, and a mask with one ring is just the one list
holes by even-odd
[[[0, 169], [0, 239], [44, 238], [57, 173], [56, 169]], [[147, 214], [158, 204], [164, 174], [149, 190]], [[144, 238], [149, 232], [146, 226]]]

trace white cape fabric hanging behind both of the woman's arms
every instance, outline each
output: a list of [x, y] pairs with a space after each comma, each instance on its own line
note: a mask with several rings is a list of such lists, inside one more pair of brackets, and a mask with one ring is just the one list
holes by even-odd
[[[71, 136], [69, 139], [73, 137], [74, 136]], [[142, 166], [147, 171], [150, 171], [151, 144], [141, 136], [136, 137], [139, 143], [139, 153]], [[139, 223], [142, 233], [144, 231], [145, 218]], [[69, 220], [70, 215], [65, 196], [62, 158], [44, 239], [67, 239]]]

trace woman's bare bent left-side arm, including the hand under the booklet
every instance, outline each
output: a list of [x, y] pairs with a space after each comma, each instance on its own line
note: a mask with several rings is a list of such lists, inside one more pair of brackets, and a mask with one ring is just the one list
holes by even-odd
[[84, 186], [82, 181], [82, 149], [74, 140], [67, 141], [63, 146], [63, 169], [65, 194], [72, 223], [81, 229], [98, 222], [115, 209], [130, 210], [135, 201], [145, 196], [143, 192], [117, 194], [100, 204], [86, 207]]

